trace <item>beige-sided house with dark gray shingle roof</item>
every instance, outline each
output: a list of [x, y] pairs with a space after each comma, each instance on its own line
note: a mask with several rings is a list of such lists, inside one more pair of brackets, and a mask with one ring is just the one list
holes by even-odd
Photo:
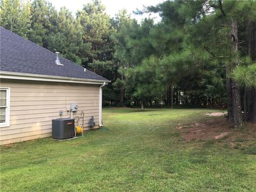
[[[0, 33], [1, 145], [51, 137], [52, 119], [82, 111], [84, 130], [92, 116], [94, 128], [102, 126], [102, 87], [110, 81], [9, 30]], [[70, 103], [77, 103], [74, 114]]]

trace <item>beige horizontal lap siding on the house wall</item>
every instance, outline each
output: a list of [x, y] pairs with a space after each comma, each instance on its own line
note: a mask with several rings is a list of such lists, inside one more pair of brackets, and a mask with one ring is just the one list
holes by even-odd
[[[78, 104], [73, 117], [84, 111], [84, 125], [94, 117], [99, 125], [99, 85], [1, 79], [10, 87], [10, 126], [0, 128], [1, 145], [51, 137], [52, 119], [70, 117], [70, 103]], [[82, 120], [81, 122], [82, 123]]]

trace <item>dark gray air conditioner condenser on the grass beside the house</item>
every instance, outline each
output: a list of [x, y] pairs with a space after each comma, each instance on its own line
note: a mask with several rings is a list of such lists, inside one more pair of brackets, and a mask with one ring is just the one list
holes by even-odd
[[75, 137], [75, 121], [71, 118], [52, 119], [52, 138], [68, 139]]

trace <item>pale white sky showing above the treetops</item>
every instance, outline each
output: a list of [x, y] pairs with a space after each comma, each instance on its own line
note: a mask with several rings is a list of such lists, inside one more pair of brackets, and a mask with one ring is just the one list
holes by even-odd
[[[51, 2], [57, 10], [62, 6], [66, 6], [75, 15], [77, 10], [82, 9], [83, 4], [92, 2], [92, 0], [48, 0]], [[118, 10], [126, 9], [128, 13], [131, 13], [132, 18], [137, 19], [139, 22], [145, 17], [155, 18], [155, 22], [159, 21], [158, 14], [143, 14], [135, 15], [132, 11], [136, 9], [142, 10], [143, 5], [157, 5], [164, 2], [164, 0], [101, 0], [101, 3], [106, 6], [106, 12], [110, 17], [115, 17]]]

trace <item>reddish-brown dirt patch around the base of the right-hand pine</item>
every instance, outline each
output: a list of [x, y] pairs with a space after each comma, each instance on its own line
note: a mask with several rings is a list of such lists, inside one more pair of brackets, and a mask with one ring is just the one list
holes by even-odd
[[237, 141], [239, 138], [243, 140], [256, 139], [256, 125], [247, 123], [243, 129], [235, 130], [225, 117], [214, 118], [205, 122], [194, 122], [193, 125], [177, 126], [186, 141], [206, 141], [226, 139], [229, 142]]

